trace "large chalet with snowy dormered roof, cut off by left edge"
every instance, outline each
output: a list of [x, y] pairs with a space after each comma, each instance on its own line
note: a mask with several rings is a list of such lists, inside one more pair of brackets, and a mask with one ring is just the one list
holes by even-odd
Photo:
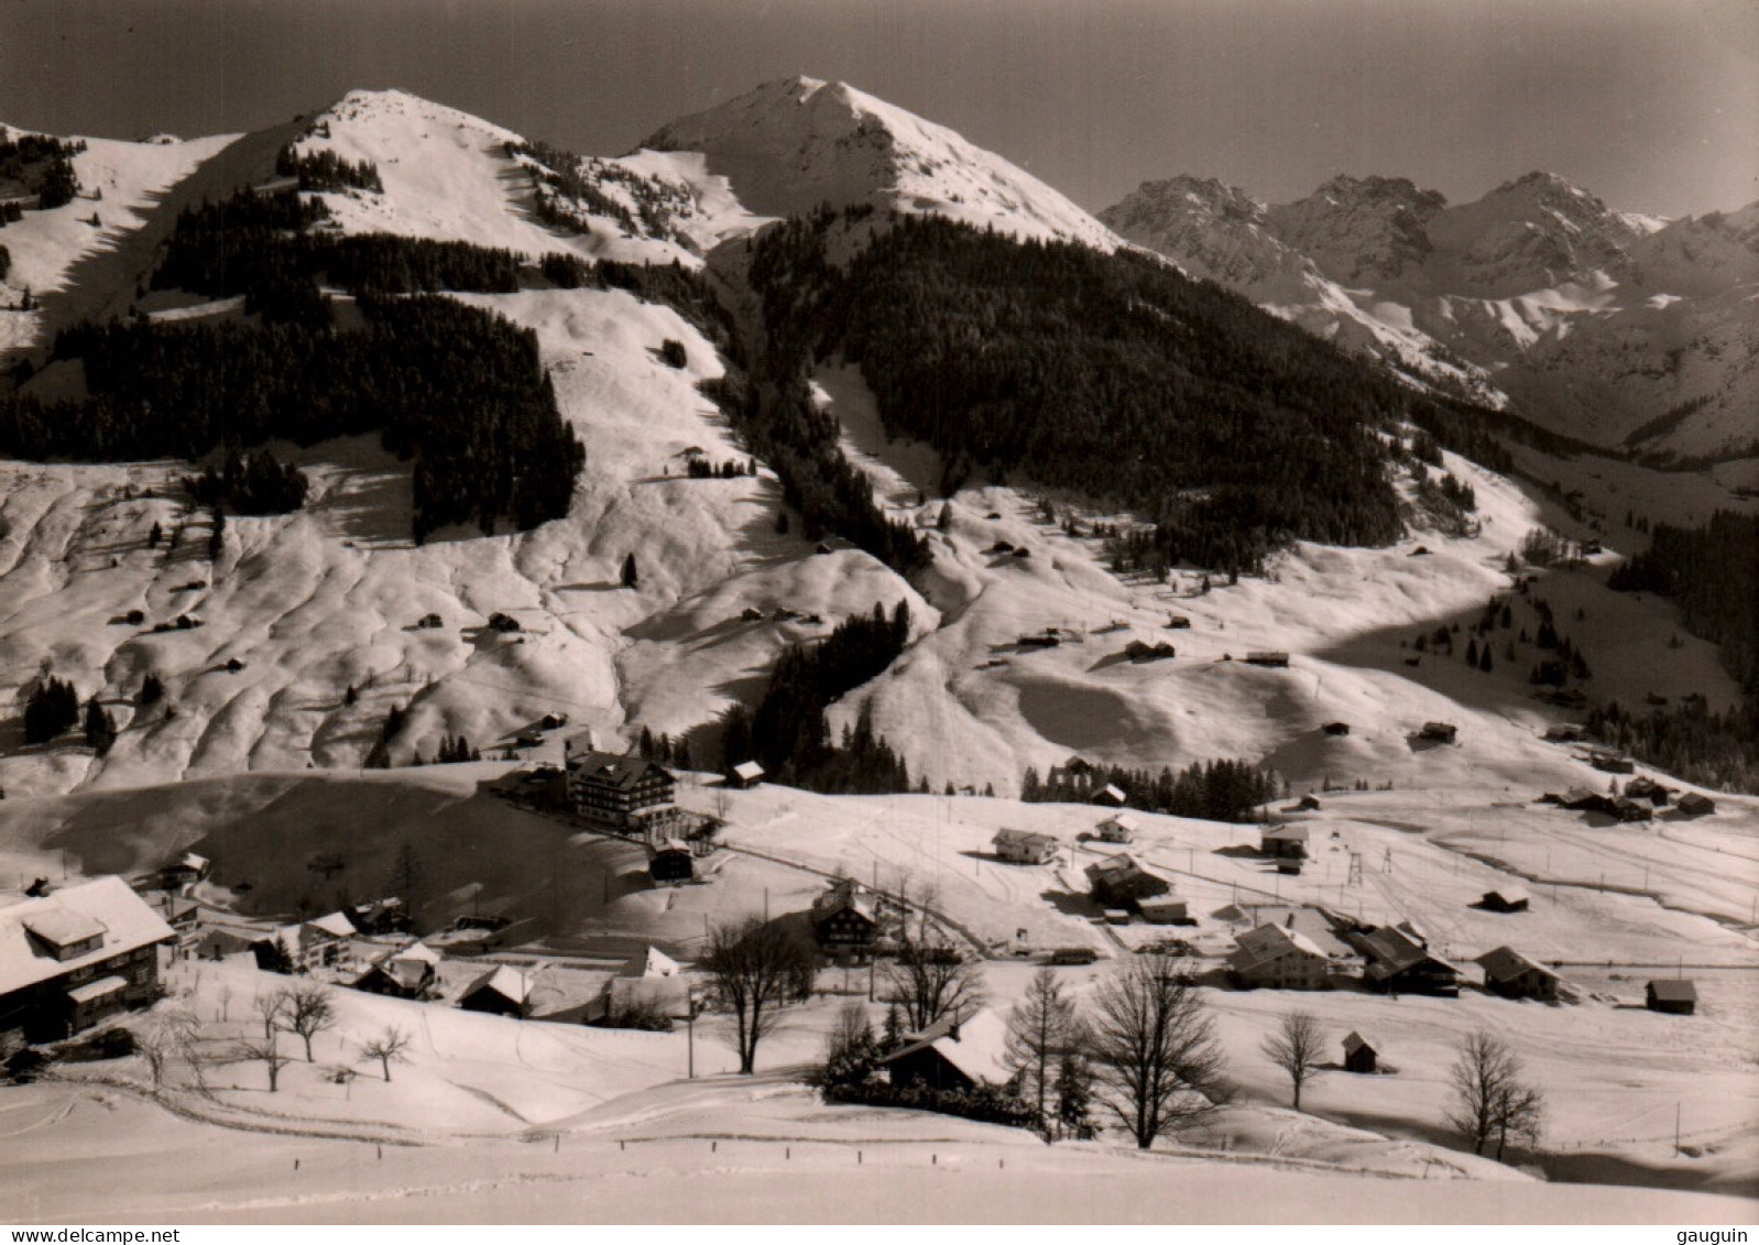
[[0, 907], [0, 1034], [67, 1038], [158, 997], [176, 934], [121, 877]]

